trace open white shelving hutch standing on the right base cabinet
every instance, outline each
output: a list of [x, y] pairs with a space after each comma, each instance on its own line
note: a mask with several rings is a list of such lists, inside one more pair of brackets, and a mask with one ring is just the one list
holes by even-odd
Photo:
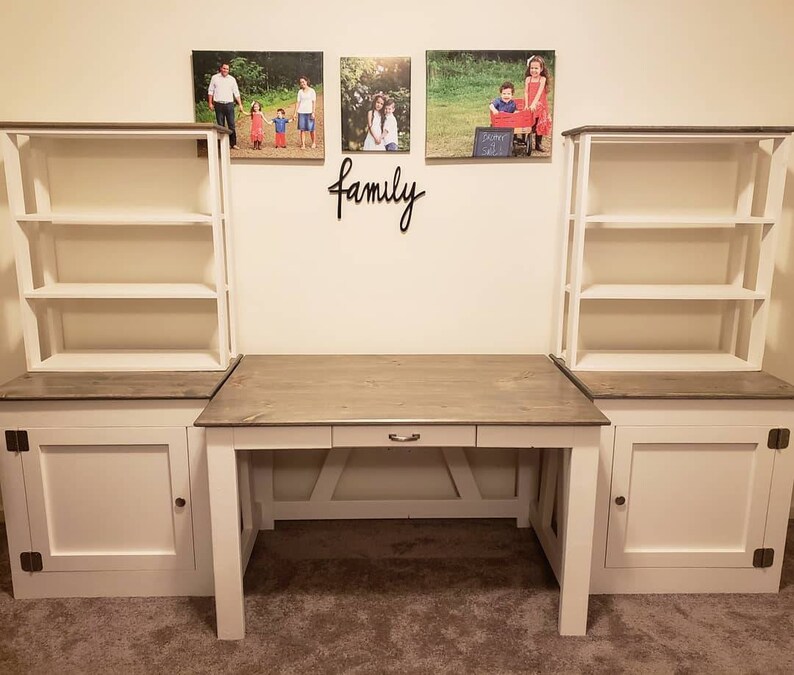
[[792, 131], [563, 132], [554, 349], [572, 370], [761, 369]]

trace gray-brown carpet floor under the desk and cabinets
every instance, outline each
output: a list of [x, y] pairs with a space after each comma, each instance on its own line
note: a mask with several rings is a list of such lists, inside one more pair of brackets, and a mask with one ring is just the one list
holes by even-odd
[[779, 594], [593, 596], [577, 638], [511, 521], [279, 524], [242, 642], [215, 639], [210, 598], [13, 600], [0, 534], [4, 674], [794, 672], [792, 524]]

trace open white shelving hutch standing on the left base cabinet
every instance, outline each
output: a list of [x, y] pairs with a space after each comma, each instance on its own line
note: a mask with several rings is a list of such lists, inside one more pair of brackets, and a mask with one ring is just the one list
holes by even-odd
[[0, 145], [28, 371], [228, 366], [227, 130], [2, 123]]

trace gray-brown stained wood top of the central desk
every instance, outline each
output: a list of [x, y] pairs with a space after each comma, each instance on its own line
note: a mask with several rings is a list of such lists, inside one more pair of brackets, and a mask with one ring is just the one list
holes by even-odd
[[243, 357], [196, 426], [609, 421], [542, 355]]

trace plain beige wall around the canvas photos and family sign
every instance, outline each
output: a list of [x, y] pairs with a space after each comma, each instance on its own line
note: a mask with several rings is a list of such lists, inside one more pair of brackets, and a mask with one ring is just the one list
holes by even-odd
[[[192, 49], [321, 50], [322, 165], [232, 169], [237, 336], [243, 352], [548, 352], [561, 247], [560, 131], [582, 124], [794, 123], [794, 5], [709, 0], [487, 3], [360, 0], [0, 0], [13, 95], [0, 119], [191, 121]], [[304, 3], [304, 6], [306, 3]], [[427, 49], [555, 49], [550, 162], [424, 159]], [[427, 196], [401, 234], [399, 205], [345, 206], [327, 187], [340, 153], [343, 55], [412, 58], [412, 151], [354, 157], [354, 175], [400, 165]], [[8, 80], [7, 80], [8, 81]], [[794, 180], [789, 176], [767, 367], [794, 380]], [[0, 216], [7, 214], [0, 198]], [[4, 218], [5, 219], [5, 218]], [[8, 228], [0, 228], [0, 379], [24, 358]], [[619, 327], [617, 327], [619, 329]]]

